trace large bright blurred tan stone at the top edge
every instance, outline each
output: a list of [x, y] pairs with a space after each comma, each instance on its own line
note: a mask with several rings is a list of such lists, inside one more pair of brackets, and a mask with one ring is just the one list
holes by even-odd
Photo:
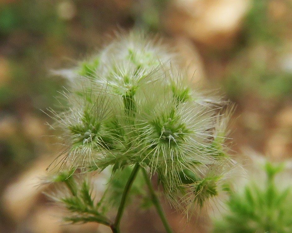
[[166, 25], [211, 47], [229, 47], [241, 28], [250, 0], [175, 0]]

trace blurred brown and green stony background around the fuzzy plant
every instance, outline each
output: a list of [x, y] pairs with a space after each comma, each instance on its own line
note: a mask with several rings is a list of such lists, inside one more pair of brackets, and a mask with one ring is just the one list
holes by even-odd
[[[162, 35], [194, 81], [236, 103], [234, 154], [292, 157], [291, 0], [0, 0], [0, 232], [110, 232], [61, 225], [36, 177], [58, 153], [45, 113], [66, 80], [51, 71], [132, 28]], [[207, 232], [162, 203], [175, 232]], [[124, 219], [123, 232], [164, 232], [153, 209]]]

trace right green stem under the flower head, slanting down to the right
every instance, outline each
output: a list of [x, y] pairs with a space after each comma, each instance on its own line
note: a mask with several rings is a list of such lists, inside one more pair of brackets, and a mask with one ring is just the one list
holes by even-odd
[[149, 189], [149, 192], [150, 192], [150, 196], [151, 196], [151, 200], [152, 200], [152, 203], [154, 204], [155, 208], [156, 208], [156, 211], [161, 219], [161, 222], [163, 223], [163, 226], [165, 227], [165, 230], [167, 233], [172, 233], [172, 230], [167, 222], [167, 219], [165, 217], [165, 214], [162, 210], [162, 207], [160, 205], [160, 202], [159, 202], [159, 199], [158, 197], [156, 196], [155, 194], [155, 191], [153, 189], [153, 186], [151, 184], [151, 181], [149, 179], [149, 176], [147, 174], [147, 172], [145, 171], [145, 169], [143, 168], [142, 169], [142, 172], [143, 172], [143, 176], [145, 178], [145, 181], [146, 181], [146, 184], [147, 184], [147, 187]]

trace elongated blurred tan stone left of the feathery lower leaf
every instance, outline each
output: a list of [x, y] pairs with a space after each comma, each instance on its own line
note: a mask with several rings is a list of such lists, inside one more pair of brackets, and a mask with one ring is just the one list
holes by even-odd
[[16, 221], [24, 219], [30, 208], [36, 203], [43, 186], [39, 186], [39, 177], [46, 175], [48, 160], [42, 159], [25, 171], [11, 185], [1, 198], [4, 210]]

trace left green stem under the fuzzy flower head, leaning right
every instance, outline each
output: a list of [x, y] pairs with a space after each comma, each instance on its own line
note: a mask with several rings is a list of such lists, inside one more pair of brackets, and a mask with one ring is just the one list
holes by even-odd
[[139, 171], [139, 168], [140, 168], [140, 165], [137, 163], [135, 165], [135, 167], [134, 167], [134, 169], [133, 169], [128, 181], [127, 181], [127, 184], [126, 184], [125, 189], [123, 191], [122, 200], [121, 200], [120, 206], [118, 208], [118, 213], [117, 213], [116, 219], [114, 221], [114, 224], [111, 226], [111, 229], [112, 229], [113, 233], [119, 233], [120, 232], [119, 226], [120, 226], [121, 218], [122, 218], [122, 215], [123, 215], [123, 212], [124, 212], [127, 195], [129, 194], [129, 191], [131, 189], [133, 181], [136, 178], [136, 175], [137, 175], [137, 172]]

